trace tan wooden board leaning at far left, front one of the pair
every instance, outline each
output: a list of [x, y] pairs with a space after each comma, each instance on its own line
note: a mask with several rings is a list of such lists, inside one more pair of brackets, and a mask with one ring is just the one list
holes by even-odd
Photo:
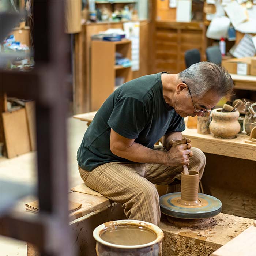
[[2, 113], [8, 158], [30, 151], [29, 129], [25, 108]]

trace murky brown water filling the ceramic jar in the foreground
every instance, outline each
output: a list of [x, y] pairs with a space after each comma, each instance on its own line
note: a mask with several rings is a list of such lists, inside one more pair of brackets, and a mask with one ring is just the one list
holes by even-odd
[[142, 245], [157, 239], [153, 231], [132, 225], [107, 229], [100, 237], [106, 242], [117, 245]]

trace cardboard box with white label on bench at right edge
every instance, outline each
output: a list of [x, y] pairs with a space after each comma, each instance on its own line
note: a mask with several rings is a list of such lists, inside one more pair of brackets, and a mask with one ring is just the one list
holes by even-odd
[[[252, 65], [253, 64], [253, 65]], [[234, 58], [222, 61], [222, 66], [231, 74], [255, 75], [256, 57]]]

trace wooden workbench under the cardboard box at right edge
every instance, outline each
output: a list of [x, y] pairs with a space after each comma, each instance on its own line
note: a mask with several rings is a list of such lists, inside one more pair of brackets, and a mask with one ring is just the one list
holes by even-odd
[[237, 74], [230, 75], [234, 80], [235, 89], [256, 91], [256, 76], [241, 76]]

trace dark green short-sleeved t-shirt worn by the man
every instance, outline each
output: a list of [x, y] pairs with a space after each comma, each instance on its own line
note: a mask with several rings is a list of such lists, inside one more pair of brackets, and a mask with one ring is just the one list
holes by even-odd
[[[99, 92], [100, 93], [100, 92]], [[168, 132], [185, 129], [184, 119], [163, 98], [161, 73], [142, 76], [115, 90], [87, 128], [77, 153], [78, 165], [91, 171], [108, 162], [130, 162], [110, 151], [110, 128], [145, 147]]]

